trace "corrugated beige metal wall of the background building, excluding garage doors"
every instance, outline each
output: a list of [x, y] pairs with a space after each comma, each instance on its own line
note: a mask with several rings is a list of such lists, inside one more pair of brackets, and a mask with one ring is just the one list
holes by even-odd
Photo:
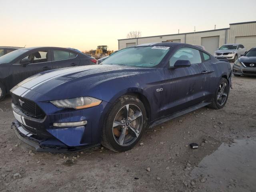
[[[181, 43], [188, 43], [193, 45], [201, 45], [202, 37], [219, 36], [219, 46], [225, 43], [235, 43], [235, 38], [238, 36], [255, 36], [256, 35], [256, 22], [230, 24], [230, 29], [212, 30], [206, 32], [187, 33], [187, 34], [174, 34], [168, 36], [154, 36], [138, 39], [123, 39], [118, 40], [118, 48], [126, 48], [126, 43], [144, 44], [151, 42], [162, 42], [167, 40], [180, 39]], [[185, 40], [186, 37], [186, 40]], [[255, 45], [256, 46], [256, 45]]]

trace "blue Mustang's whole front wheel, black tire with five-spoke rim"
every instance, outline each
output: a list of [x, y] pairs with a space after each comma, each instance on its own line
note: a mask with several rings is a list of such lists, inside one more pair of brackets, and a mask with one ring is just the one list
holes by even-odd
[[104, 120], [101, 144], [115, 152], [130, 150], [140, 141], [146, 122], [143, 103], [134, 96], [122, 96], [116, 100]]

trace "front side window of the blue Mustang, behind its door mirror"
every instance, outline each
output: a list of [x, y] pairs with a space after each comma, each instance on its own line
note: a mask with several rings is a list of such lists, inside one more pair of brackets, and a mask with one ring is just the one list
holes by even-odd
[[189, 60], [190, 64], [202, 62], [199, 50], [188, 47], [180, 48], [174, 53], [174, 55], [170, 58], [170, 66], [174, 66], [174, 63], [177, 60]]

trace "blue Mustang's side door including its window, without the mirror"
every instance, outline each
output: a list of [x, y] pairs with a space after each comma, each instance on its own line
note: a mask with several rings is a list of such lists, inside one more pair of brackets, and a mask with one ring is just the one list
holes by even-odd
[[202, 102], [206, 89], [205, 72], [200, 51], [184, 47], [177, 50], [169, 60], [173, 67], [177, 60], [189, 60], [191, 66], [181, 68], [165, 68], [164, 98], [165, 114], [173, 114]]

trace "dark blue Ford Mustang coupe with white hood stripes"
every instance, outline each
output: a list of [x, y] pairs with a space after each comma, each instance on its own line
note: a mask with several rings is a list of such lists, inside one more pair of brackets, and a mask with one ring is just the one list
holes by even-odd
[[37, 151], [131, 149], [147, 126], [224, 107], [231, 66], [189, 44], [120, 50], [102, 65], [51, 70], [11, 90], [16, 135]]

